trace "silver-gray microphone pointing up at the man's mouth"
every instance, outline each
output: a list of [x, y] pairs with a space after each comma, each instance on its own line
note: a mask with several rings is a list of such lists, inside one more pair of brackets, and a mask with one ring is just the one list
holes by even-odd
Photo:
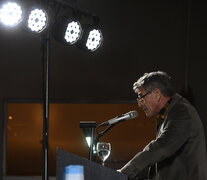
[[129, 111], [126, 114], [122, 114], [121, 116], [115, 117], [113, 119], [110, 119], [106, 122], [106, 124], [115, 124], [115, 123], [119, 123], [122, 121], [126, 121], [128, 119], [134, 119], [138, 116], [137, 111]]

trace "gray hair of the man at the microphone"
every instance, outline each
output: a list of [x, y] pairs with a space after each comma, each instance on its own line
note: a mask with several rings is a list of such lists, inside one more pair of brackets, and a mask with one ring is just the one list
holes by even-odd
[[138, 93], [138, 89], [141, 87], [146, 91], [152, 91], [158, 88], [167, 97], [174, 95], [171, 77], [163, 71], [145, 73], [133, 84], [133, 90], [135, 93]]

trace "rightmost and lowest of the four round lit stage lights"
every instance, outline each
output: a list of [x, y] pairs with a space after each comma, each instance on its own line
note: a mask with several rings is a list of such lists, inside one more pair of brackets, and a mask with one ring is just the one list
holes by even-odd
[[103, 42], [103, 35], [100, 30], [93, 29], [89, 32], [86, 47], [88, 50], [95, 51]]

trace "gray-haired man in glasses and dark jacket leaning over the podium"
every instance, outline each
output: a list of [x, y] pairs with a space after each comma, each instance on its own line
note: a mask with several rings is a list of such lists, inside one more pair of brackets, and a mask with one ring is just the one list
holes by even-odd
[[145, 73], [133, 89], [146, 116], [156, 117], [157, 134], [119, 171], [130, 180], [207, 180], [203, 124], [195, 108], [174, 93], [171, 78]]

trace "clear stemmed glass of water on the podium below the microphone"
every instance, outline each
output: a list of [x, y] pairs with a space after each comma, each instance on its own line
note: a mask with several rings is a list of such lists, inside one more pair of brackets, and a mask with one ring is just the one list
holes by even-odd
[[111, 144], [107, 142], [98, 142], [96, 146], [98, 157], [101, 159], [102, 165], [111, 153]]

